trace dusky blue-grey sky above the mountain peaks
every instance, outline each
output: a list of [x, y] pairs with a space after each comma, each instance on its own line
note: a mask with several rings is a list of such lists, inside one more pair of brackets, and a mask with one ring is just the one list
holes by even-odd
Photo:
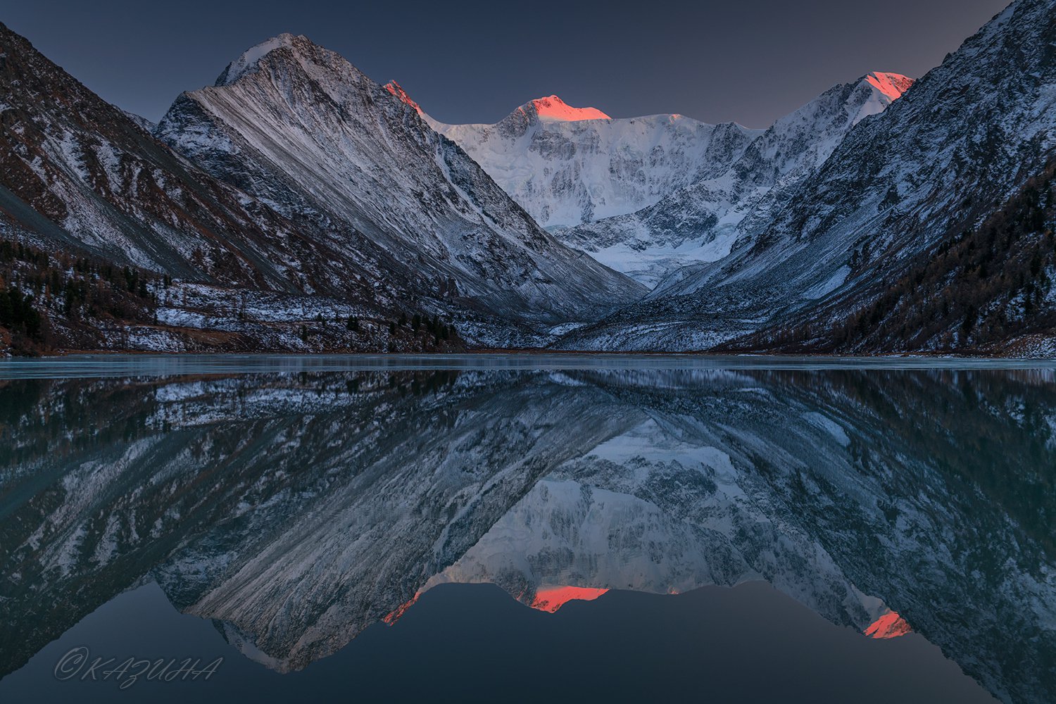
[[103, 98], [156, 120], [250, 45], [304, 34], [448, 122], [555, 93], [614, 117], [766, 127], [869, 71], [919, 77], [1006, 0], [344, 2], [34, 0], [0, 21]]

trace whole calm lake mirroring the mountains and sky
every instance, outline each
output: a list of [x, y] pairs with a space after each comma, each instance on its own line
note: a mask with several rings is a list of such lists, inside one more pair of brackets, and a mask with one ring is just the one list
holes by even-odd
[[1054, 519], [1056, 363], [5, 360], [0, 701], [1052, 702]]

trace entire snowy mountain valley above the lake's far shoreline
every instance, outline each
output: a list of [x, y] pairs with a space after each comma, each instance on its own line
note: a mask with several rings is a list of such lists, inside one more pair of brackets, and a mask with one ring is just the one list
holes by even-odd
[[288, 34], [152, 125], [0, 24], [0, 349], [1051, 357], [1054, 103], [1056, 0], [766, 130], [448, 125]]

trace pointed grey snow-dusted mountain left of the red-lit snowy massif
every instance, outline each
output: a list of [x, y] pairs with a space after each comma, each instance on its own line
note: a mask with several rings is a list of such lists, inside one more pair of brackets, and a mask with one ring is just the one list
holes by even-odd
[[415, 110], [305, 37], [250, 49], [215, 85], [180, 96], [156, 134], [284, 217], [325, 230], [341, 260], [378, 248], [421, 296], [546, 326], [642, 292], [554, 240]]

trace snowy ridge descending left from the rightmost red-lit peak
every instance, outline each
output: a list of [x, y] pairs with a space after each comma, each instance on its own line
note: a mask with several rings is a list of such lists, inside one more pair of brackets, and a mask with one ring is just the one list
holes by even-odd
[[851, 128], [883, 112], [912, 83], [899, 74], [871, 73], [835, 85], [660, 202], [559, 236], [648, 285], [680, 265], [722, 259], [742, 222], [765, 223]]

